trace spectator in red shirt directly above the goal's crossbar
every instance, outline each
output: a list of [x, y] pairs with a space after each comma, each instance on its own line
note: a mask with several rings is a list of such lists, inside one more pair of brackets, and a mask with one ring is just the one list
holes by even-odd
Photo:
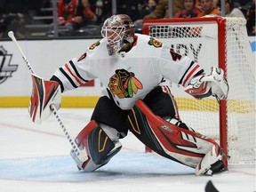
[[201, 12], [196, 8], [196, 0], [184, 0], [185, 10], [177, 12], [174, 18], [194, 18]]

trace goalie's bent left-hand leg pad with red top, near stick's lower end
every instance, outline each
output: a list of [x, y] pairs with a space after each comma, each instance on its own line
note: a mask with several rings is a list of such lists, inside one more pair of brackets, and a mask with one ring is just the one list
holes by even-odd
[[[102, 127], [104, 128], [102, 128]], [[91, 121], [76, 136], [78, 148], [84, 148], [88, 159], [80, 166], [85, 172], [92, 172], [104, 164], [108, 164], [111, 157], [122, 148], [119, 142], [119, 132], [105, 124]], [[71, 156], [79, 164], [75, 153]], [[81, 163], [80, 163], [81, 164]]]

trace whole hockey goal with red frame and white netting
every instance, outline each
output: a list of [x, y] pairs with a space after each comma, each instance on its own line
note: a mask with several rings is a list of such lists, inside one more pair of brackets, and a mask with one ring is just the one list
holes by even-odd
[[146, 20], [143, 33], [156, 37], [175, 52], [188, 55], [206, 71], [224, 69], [228, 99], [196, 100], [172, 84], [183, 122], [220, 142], [231, 156], [228, 164], [255, 164], [255, 64], [246, 20], [205, 17]]

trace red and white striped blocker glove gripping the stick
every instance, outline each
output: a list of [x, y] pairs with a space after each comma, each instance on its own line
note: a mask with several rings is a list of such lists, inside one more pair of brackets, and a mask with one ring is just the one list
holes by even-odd
[[45, 81], [34, 74], [32, 74], [32, 84], [33, 89], [28, 107], [29, 117], [36, 124], [41, 124], [43, 120], [51, 116], [51, 105], [60, 108], [60, 84], [54, 81]]

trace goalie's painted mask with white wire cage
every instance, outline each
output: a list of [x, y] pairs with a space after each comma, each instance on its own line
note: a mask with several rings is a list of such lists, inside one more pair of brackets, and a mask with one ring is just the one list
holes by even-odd
[[119, 52], [124, 44], [132, 43], [134, 25], [125, 14], [116, 14], [105, 20], [101, 28], [101, 36], [106, 39], [109, 55]]

